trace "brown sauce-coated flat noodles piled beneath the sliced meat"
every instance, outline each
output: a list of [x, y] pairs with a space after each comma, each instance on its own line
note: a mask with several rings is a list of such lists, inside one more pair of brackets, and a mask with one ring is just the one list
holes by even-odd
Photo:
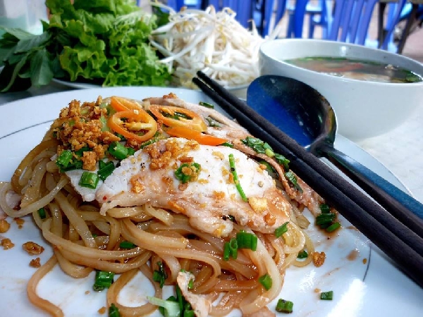
[[[223, 316], [233, 309], [247, 315], [264, 309], [278, 297], [283, 278], [289, 266], [305, 266], [312, 259], [314, 247], [293, 212], [288, 232], [282, 238], [255, 232], [257, 251], [239, 250], [238, 259], [223, 261], [223, 244], [235, 237], [243, 228], [235, 224], [228, 237], [214, 237], [190, 226], [186, 216], [152, 206], [114, 208], [106, 216], [99, 213], [95, 203], [82, 201], [59, 173], [54, 161], [58, 142], [47, 136], [32, 149], [13, 174], [11, 183], [0, 193], [0, 206], [11, 217], [32, 213], [42, 236], [54, 247], [54, 255], [32, 276], [27, 294], [35, 304], [52, 316], [63, 316], [58, 306], [40, 298], [36, 288], [39, 281], [57, 264], [73, 278], [85, 278], [93, 270], [111, 271], [118, 278], [107, 292], [107, 306], [115, 304], [121, 316], [143, 316], [157, 306], [145, 304], [128, 307], [119, 304], [118, 294], [139, 271], [155, 288], [155, 297], [161, 297], [161, 288], [152, 280], [152, 273], [161, 261], [168, 270], [166, 285], [175, 285], [181, 270], [195, 275], [190, 292], [204, 294], [213, 302], [212, 316]], [[9, 190], [22, 195], [20, 209], [6, 203]], [[293, 202], [293, 210], [298, 211]], [[37, 212], [45, 207], [47, 218]], [[299, 220], [302, 220], [301, 218]], [[93, 235], [95, 233], [96, 235]], [[133, 242], [137, 247], [120, 249], [122, 241]], [[309, 256], [298, 261], [298, 252], [307, 249]], [[258, 282], [259, 276], [269, 274], [273, 283], [269, 290]]]

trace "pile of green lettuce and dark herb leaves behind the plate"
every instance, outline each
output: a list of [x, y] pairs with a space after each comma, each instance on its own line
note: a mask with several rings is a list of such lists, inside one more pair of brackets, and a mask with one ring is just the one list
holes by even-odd
[[[47, 0], [42, 35], [0, 27], [0, 91], [47, 85], [53, 77], [104, 86], [163, 86], [171, 74], [149, 46], [157, 16], [133, 0]], [[161, 18], [166, 18], [161, 16]], [[161, 22], [162, 23], [162, 22]]]

